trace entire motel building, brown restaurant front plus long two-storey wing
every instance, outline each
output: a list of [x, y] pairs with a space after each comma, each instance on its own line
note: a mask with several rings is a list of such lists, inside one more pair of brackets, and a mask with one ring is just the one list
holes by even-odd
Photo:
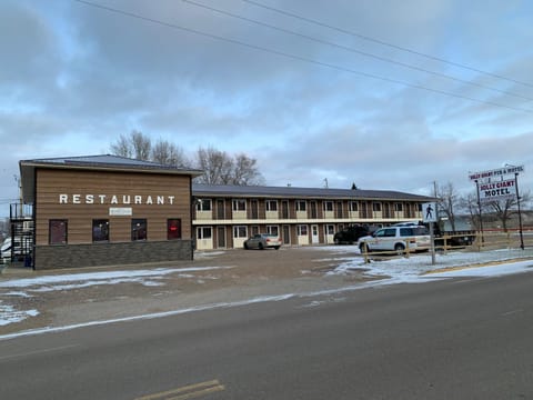
[[17, 259], [33, 269], [192, 260], [255, 233], [333, 243], [343, 228], [422, 219], [423, 196], [385, 190], [193, 183], [203, 172], [117, 156], [20, 161]]

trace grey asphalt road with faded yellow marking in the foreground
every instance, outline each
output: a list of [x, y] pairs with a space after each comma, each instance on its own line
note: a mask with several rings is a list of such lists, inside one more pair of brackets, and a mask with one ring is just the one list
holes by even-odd
[[0, 341], [0, 399], [533, 399], [533, 273]]

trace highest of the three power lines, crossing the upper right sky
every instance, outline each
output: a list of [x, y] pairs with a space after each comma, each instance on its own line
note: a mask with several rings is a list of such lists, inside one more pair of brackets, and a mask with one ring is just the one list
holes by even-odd
[[463, 63], [459, 63], [459, 62], [455, 62], [455, 61], [446, 60], [446, 59], [443, 59], [443, 58], [440, 58], [440, 57], [436, 57], [436, 56], [426, 54], [426, 53], [423, 53], [423, 52], [421, 52], [421, 51], [416, 51], [416, 50], [412, 50], [412, 49], [409, 49], [409, 48], [405, 48], [405, 47], [402, 47], [402, 46], [393, 44], [393, 43], [386, 42], [386, 41], [384, 41], [384, 40], [379, 40], [379, 39], [375, 39], [375, 38], [371, 38], [371, 37], [369, 37], [369, 36], [361, 34], [361, 33], [356, 33], [356, 32], [350, 31], [350, 30], [348, 30], [348, 29], [342, 29], [342, 28], [339, 28], [339, 27], [334, 27], [334, 26], [331, 26], [331, 24], [329, 24], [329, 23], [321, 22], [321, 21], [319, 21], [319, 20], [314, 20], [314, 19], [311, 19], [311, 18], [302, 17], [302, 16], [299, 16], [299, 14], [293, 13], [293, 12], [289, 12], [289, 11], [281, 10], [281, 9], [278, 9], [278, 8], [274, 8], [274, 7], [271, 7], [271, 6], [266, 6], [266, 4], [260, 3], [260, 2], [254, 1], [254, 0], [242, 0], [242, 1], [244, 1], [244, 2], [247, 2], [247, 3], [250, 3], [250, 4], [253, 4], [253, 6], [257, 6], [257, 7], [261, 7], [261, 8], [265, 9], [265, 10], [270, 10], [270, 11], [273, 11], [273, 12], [278, 12], [278, 13], [280, 13], [280, 14], [283, 14], [283, 16], [286, 16], [286, 17], [291, 17], [291, 18], [295, 18], [295, 19], [299, 19], [299, 20], [302, 20], [302, 21], [305, 21], [305, 22], [309, 22], [309, 23], [313, 23], [313, 24], [316, 24], [316, 26], [320, 26], [320, 27], [323, 27], [323, 28], [332, 29], [332, 30], [335, 30], [335, 31], [338, 31], [338, 32], [341, 32], [341, 33], [344, 33], [344, 34], [349, 34], [349, 36], [352, 36], [352, 37], [356, 37], [356, 38], [360, 38], [360, 39], [362, 39], [362, 40], [366, 40], [366, 41], [370, 41], [370, 42], [373, 42], [373, 43], [378, 43], [378, 44], [385, 46], [385, 47], [389, 47], [389, 48], [392, 48], [392, 49], [405, 51], [405, 52], [409, 52], [409, 53], [411, 53], [411, 54], [421, 56], [421, 57], [424, 57], [424, 58], [430, 59], [430, 60], [434, 60], [434, 61], [439, 61], [439, 62], [444, 62], [444, 63], [447, 63], [447, 64], [450, 64], [450, 66], [463, 68], [463, 69], [473, 71], [473, 72], [477, 72], [477, 73], [485, 74], [485, 76], [487, 76], [487, 77], [497, 78], [497, 79], [503, 79], [503, 80], [506, 80], [506, 81], [509, 81], [509, 82], [513, 82], [513, 83], [517, 83], [517, 84], [523, 84], [523, 86], [533, 88], [533, 83], [519, 81], [519, 80], [513, 79], [513, 78], [507, 78], [507, 77], [503, 77], [503, 76], [501, 76], [501, 74], [496, 74], [496, 73], [493, 73], [493, 72], [483, 71], [483, 70], [481, 70], [481, 69], [477, 69], [477, 68], [474, 68], [474, 67], [470, 67], [470, 66], [466, 66], [466, 64], [463, 64]]

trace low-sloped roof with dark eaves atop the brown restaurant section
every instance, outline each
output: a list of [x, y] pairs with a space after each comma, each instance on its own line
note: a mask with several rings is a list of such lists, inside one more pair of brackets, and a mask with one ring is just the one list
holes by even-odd
[[34, 200], [34, 178], [37, 168], [185, 174], [191, 176], [192, 178], [199, 177], [203, 173], [201, 170], [164, 166], [159, 162], [135, 160], [112, 154], [21, 160], [19, 167], [22, 193], [24, 201], [27, 202], [32, 202]]

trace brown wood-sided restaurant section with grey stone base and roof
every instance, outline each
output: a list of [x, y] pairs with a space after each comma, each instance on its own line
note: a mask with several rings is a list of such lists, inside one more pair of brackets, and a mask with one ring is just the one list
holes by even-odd
[[117, 156], [19, 164], [21, 203], [11, 206], [11, 236], [27, 267], [193, 258], [191, 186], [202, 171]]

